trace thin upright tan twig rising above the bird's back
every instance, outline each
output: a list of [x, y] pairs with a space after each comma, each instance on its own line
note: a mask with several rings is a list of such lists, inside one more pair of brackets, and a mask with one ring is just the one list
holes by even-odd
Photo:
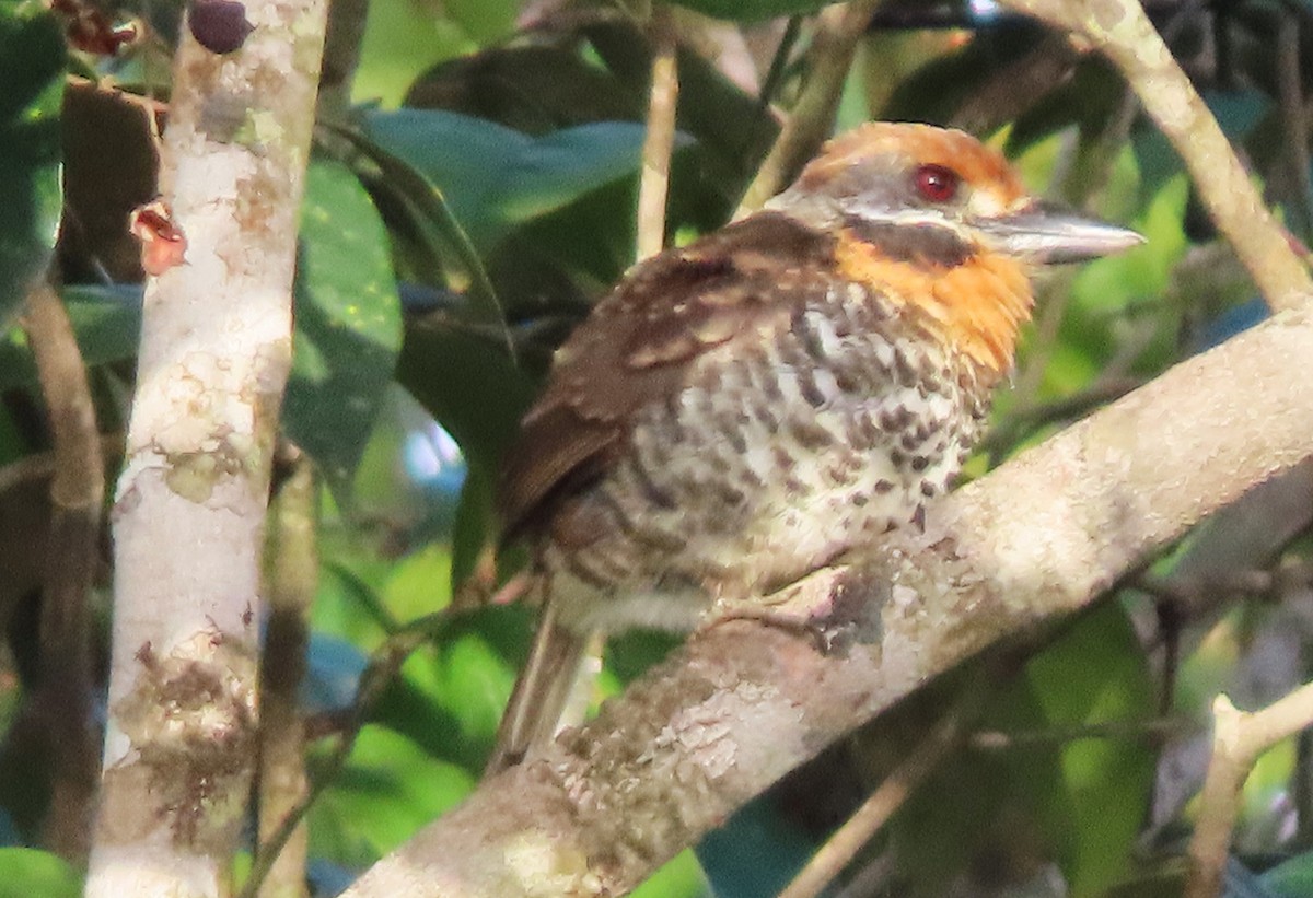
[[670, 189], [670, 155], [675, 148], [679, 71], [675, 64], [675, 24], [664, 3], [654, 5], [649, 33], [653, 38], [653, 83], [647, 100], [643, 173], [638, 184], [635, 249], [639, 261], [655, 256], [666, 246], [666, 194]]

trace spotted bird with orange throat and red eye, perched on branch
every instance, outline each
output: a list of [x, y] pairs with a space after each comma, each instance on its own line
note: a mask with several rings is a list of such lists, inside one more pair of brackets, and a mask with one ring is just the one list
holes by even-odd
[[1141, 240], [962, 131], [868, 122], [759, 211], [637, 264], [503, 466], [541, 610], [487, 772], [550, 743], [590, 634], [692, 630], [924, 526], [1011, 374], [1035, 270]]

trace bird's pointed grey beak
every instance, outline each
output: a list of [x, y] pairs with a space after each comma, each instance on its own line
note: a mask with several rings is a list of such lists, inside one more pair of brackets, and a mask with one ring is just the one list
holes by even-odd
[[1098, 259], [1145, 242], [1128, 227], [1044, 201], [1002, 218], [977, 219], [974, 224], [995, 249], [1050, 265]]

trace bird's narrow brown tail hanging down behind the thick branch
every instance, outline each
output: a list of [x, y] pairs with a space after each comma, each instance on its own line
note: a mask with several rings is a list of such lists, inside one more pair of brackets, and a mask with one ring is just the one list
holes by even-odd
[[502, 714], [484, 776], [524, 760], [530, 748], [551, 742], [579, 677], [587, 639], [557, 622], [554, 603], [542, 605], [529, 659]]

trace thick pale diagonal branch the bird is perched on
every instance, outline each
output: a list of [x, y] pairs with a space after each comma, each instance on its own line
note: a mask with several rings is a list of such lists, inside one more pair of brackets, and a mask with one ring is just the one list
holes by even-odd
[[798, 582], [777, 612], [821, 625], [821, 641], [748, 620], [695, 634], [347, 894], [633, 887], [919, 684], [1091, 603], [1205, 515], [1313, 456], [1313, 391], [1291, 377], [1309, 353], [1313, 311], [1278, 315], [949, 495], [924, 534]]

